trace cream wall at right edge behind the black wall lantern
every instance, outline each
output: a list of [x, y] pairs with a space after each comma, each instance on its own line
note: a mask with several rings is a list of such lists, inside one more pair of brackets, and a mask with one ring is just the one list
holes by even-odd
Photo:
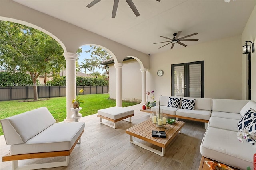
[[[241, 41], [241, 55], [242, 55], [242, 99], [246, 99], [246, 56], [242, 54], [242, 46], [245, 45], [245, 41], [252, 41], [256, 45], [256, 6], [252, 11], [250, 18], [242, 33]], [[248, 45], [251, 43], [248, 43]], [[256, 51], [251, 53], [251, 100], [256, 101]]]

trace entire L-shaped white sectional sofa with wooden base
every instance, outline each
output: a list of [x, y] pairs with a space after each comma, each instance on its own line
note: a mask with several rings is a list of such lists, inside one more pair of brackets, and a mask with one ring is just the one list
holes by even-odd
[[[222, 162], [229, 166], [246, 170], [253, 167], [254, 146], [247, 141], [240, 143], [237, 139], [238, 121], [250, 108], [256, 110], [256, 102], [251, 100], [196, 99], [194, 110], [168, 107], [169, 98], [160, 97], [160, 109], [170, 117], [191, 119], [205, 122], [206, 132], [202, 139], [200, 152], [202, 156]], [[151, 108], [156, 111], [159, 106]]]

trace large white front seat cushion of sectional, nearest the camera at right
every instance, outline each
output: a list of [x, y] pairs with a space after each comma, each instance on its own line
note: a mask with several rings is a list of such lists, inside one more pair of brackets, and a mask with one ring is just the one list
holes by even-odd
[[248, 142], [240, 143], [236, 133], [208, 127], [200, 146], [202, 156], [242, 170], [253, 167], [255, 149]]

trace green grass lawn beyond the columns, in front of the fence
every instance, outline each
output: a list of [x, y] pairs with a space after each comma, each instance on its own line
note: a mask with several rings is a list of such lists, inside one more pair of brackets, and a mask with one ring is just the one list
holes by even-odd
[[[80, 104], [83, 109], [79, 111], [83, 116], [96, 114], [98, 109], [116, 106], [116, 100], [109, 99], [109, 94], [86, 94], [79, 95], [85, 102]], [[57, 122], [66, 119], [66, 97], [49, 98], [37, 102], [19, 102], [20, 100], [0, 102], [0, 119], [18, 115], [25, 111], [30, 111], [39, 107], [47, 107]], [[136, 102], [122, 102], [122, 106], [132, 106]], [[72, 105], [70, 104], [70, 108]], [[2, 126], [0, 126], [0, 135], [3, 135]]]

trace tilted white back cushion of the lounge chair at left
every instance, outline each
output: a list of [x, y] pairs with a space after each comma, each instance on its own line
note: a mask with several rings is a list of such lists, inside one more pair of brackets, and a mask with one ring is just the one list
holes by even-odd
[[41, 107], [1, 120], [7, 145], [28, 141], [56, 121], [46, 107]]

